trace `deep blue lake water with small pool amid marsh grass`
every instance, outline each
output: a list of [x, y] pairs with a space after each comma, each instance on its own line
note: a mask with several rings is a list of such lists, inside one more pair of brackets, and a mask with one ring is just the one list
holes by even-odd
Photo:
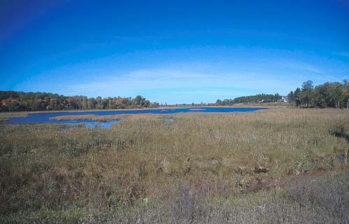
[[[29, 117], [14, 117], [8, 119], [9, 123], [13, 124], [32, 124], [32, 123], [58, 123], [58, 124], [81, 124], [84, 123], [87, 127], [94, 128], [99, 126], [101, 128], [110, 128], [114, 123], [119, 120], [98, 122], [93, 120], [80, 120], [80, 121], [56, 121], [50, 118], [66, 115], [113, 115], [113, 114], [176, 114], [176, 113], [189, 113], [189, 112], [218, 112], [218, 113], [230, 113], [230, 112], [254, 112], [257, 110], [267, 110], [267, 108], [257, 107], [188, 107], [188, 108], [166, 108], [166, 109], [151, 109], [151, 110], [117, 110], [117, 111], [84, 111], [84, 112], [43, 112], [29, 114]], [[173, 121], [173, 119], [167, 119], [167, 121]]]

